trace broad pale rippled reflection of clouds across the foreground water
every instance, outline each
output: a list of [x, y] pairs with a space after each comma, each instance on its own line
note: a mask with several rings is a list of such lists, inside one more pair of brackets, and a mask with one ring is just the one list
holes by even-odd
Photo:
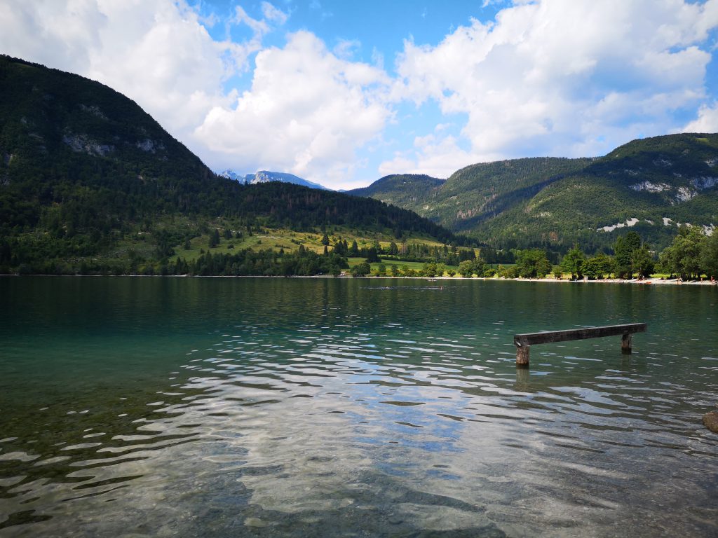
[[[45, 528], [60, 534], [108, 534], [131, 520], [137, 534], [499, 536], [498, 524], [571, 536], [620, 519], [640, 536], [689, 528], [670, 511], [652, 513], [653, 527], [630, 523], [630, 506], [674, 494], [709, 515], [715, 486], [686, 468], [691, 453], [710, 457], [688, 433], [689, 384], [650, 382], [645, 362], [598, 346], [556, 346], [516, 370], [499, 321], [438, 336], [336, 317], [238, 326], [191, 351], [169, 390], [147, 395], [154, 412], [56, 462], [81, 488], [45, 481], [24, 498], [49, 502]], [[652, 493], [654, 469], [677, 461], [681, 473], [663, 474]]]

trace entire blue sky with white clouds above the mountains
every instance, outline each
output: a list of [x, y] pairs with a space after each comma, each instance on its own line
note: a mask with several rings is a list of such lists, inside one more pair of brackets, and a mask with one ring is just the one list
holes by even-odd
[[718, 0], [3, 0], [0, 52], [332, 189], [718, 132]]

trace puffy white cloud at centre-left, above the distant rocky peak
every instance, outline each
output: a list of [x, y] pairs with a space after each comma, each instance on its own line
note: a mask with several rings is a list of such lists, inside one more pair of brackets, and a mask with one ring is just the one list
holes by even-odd
[[260, 166], [344, 187], [356, 150], [381, 133], [386, 73], [329, 52], [314, 34], [256, 56], [251, 90], [210, 111], [195, 135], [228, 165]]

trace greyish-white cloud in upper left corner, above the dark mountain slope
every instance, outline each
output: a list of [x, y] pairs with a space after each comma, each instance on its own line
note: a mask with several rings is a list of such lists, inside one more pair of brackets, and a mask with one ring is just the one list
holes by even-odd
[[215, 106], [228, 105], [228, 77], [249, 67], [261, 38], [286, 15], [263, 2], [265, 19], [237, 7], [228, 24], [245, 25], [244, 42], [210, 37], [201, 16], [172, 0], [6, 0], [0, 4], [0, 50], [98, 80], [134, 99], [200, 156], [192, 133]]

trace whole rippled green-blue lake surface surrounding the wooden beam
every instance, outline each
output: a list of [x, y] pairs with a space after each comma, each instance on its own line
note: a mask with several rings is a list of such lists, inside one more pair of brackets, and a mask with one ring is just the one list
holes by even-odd
[[[715, 537], [718, 291], [0, 278], [1, 537]], [[645, 321], [531, 349], [513, 334]]]

